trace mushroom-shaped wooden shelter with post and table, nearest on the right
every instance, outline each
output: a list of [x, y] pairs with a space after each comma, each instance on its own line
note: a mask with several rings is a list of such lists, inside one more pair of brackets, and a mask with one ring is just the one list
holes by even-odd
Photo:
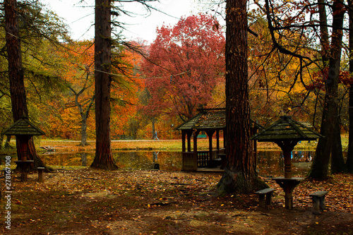
[[316, 140], [323, 137], [320, 133], [311, 130], [290, 116], [281, 116], [279, 120], [271, 124], [263, 131], [251, 137], [252, 140], [261, 142], [274, 142], [283, 151], [285, 157], [285, 177], [273, 178], [285, 191], [285, 207], [292, 209], [294, 188], [303, 178], [292, 177], [291, 152], [294, 146], [301, 140]]

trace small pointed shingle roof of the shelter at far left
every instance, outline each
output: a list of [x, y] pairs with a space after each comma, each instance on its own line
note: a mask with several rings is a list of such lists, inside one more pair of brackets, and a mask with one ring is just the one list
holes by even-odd
[[44, 131], [31, 123], [28, 117], [22, 117], [4, 132], [4, 135], [44, 135]]

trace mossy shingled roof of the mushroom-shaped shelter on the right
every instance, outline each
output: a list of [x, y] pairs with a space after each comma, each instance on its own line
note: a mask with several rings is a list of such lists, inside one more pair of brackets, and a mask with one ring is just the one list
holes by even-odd
[[281, 116], [268, 128], [253, 135], [251, 139], [260, 142], [275, 142], [277, 140], [316, 140], [321, 137], [323, 137], [321, 133], [303, 123], [294, 121], [291, 116]]

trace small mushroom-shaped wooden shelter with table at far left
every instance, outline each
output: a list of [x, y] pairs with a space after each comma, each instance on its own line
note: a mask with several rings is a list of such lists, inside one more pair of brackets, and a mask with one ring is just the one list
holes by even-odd
[[13, 125], [7, 128], [3, 134], [16, 136], [20, 152], [18, 152], [18, 161], [15, 162], [21, 172], [21, 181], [27, 181], [28, 168], [34, 162], [33, 160], [28, 159], [28, 140], [30, 140], [33, 135], [44, 135], [44, 131], [31, 123], [28, 117], [25, 116], [18, 119], [16, 123], [13, 123]]

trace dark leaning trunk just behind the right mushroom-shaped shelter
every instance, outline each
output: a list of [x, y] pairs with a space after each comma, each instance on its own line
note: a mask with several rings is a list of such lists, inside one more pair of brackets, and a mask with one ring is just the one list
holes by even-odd
[[325, 98], [321, 119], [321, 134], [325, 137], [318, 140], [316, 155], [309, 172], [309, 177], [316, 179], [325, 179], [328, 177], [328, 165], [333, 150], [333, 138], [337, 137], [335, 135], [335, 128], [339, 126], [336, 124], [337, 117], [339, 116], [337, 93], [342, 49], [342, 24], [345, 15], [343, 9], [340, 1], [333, 1], [333, 32], [330, 44], [330, 62], [328, 77], [325, 79]]

